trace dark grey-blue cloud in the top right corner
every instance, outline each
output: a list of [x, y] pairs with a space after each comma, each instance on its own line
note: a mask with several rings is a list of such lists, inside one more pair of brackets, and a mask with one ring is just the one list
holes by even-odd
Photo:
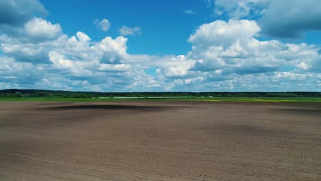
[[309, 30], [321, 30], [318, 0], [217, 0], [215, 12], [230, 18], [257, 18], [261, 33], [272, 38], [301, 38]]

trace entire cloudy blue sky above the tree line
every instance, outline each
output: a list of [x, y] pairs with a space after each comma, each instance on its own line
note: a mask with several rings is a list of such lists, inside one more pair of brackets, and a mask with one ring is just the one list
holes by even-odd
[[0, 0], [0, 89], [321, 91], [320, 7]]

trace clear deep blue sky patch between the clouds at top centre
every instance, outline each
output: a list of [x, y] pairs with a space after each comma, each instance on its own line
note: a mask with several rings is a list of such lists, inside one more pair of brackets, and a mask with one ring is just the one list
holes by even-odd
[[[184, 54], [191, 49], [187, 43], [191, 32], [213, 20], [212, 10], [199, 0], [42, 2], [49, 10], [47, 19], [60, 23], [69, 36], [82, 31], [93, 40], [101, 40], [105, 36], [119, 36], [123, 25], [141, 27], [141, 36], [132, 36], [128, 41], [128, 53]], [[191, 16], [184, 13], [186, 10], [198, 10], [198, 14]], [[93, 26], [95, 19], [104, 18], [111, 23], [107, 33]], [[175, 41], [169, 44], [172, 40]]]

